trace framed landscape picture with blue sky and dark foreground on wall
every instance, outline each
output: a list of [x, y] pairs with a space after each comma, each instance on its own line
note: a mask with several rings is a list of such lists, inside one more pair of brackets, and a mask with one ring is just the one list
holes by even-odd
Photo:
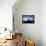
[[23, 15], [22, 23], [35, 23], [35, 16], [34, 15]]

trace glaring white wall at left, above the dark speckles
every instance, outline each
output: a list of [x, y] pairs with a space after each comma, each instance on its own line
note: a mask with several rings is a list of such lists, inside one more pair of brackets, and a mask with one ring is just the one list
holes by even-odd
[[12, 6], [16, 0], [0, 0], [0, 27], [12, 28]]

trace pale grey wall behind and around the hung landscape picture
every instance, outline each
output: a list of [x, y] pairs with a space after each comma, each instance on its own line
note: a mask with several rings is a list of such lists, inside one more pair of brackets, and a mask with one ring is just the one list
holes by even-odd
[[[24, 38], [34, 40], [36, 46], [41, 46], [40, 13], [41, 0], [22, 0], [13, 6], [15, 29], [22, 32]], [[22, 15], [35, 15], [35, 24], [22, 24]]]

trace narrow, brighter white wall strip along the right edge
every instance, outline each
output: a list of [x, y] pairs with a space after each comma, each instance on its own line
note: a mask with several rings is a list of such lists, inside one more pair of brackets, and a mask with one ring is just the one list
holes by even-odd
[[46, 46], [46, 0], [41, 1], [41, 40], [42, 46]]

